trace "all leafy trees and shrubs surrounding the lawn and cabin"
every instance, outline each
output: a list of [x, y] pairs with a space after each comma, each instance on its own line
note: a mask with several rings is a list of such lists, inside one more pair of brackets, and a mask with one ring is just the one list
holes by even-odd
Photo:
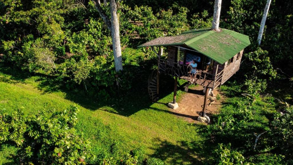
[[[110, 16], [110, 8], [105, 4], [101, 4], [102, 8]], [[221, 87], [231, 97], [229, 104], [214, 115], [212, 124], [201, 128], [201, 136], [211, 145], [209, 154], [202, 158], [206, 164], [293, 164], [293, 1], [271, 2], [258, 46], [265, 4], [265, 0], [222, 2], [220, 28], [249, 36], [251, 45], [245, 49], [237, 78], [231, 80], [229, 87]], [[212, 0], [118, 1], [123, 71], [115, 72], [111, 33], [93, 1], [0, 0], [1, 66], [21, 74], [47, 76], [52, 78], [53, 86], [83, 91], [96, 100], [112, 99], [116, 104], [131, 95], [127, 95], [130, 89], [140, 90], [141, 87], [135, 88], [137, 84], [145, 85], [147, 74], [156, 67], [156, 55], [151, 49], [137, 46], [189, 29], [210, 28], [213, 7]], [[143, 56], [135, 56], [134, 50], [143, 52]], [[4, 131], [0, 132], [0, 142], [15, 142], [21, 148], [18, 154], [23, 162], [40, 163], [44, 161], [40, 153], [46, 153], [46, 161], [56, 164], [84, 164], [85, 160], [91, 164], [163, 164], [156, 158], [146, 161], [133, 151], [122, 156], [121, 162], [117, 155], [106, 159], [106, 154], [97, 153], [98, 149], [92, 153], [87, 141], [76, 136], [77, 112], [73, 106], [51, 116], [39, 113], [25, 118], [21, 111], [12, 115], [1, 111], [0, 128]], [[74, 142], [69, 148], [63, 139], [56, 139], [60, 132], [55, 127], [34, 127], [36, 123], [52, 121], [59, 123], [64, 141]], [[17, 126], [23, 128], [22, 132], [15, 131]], [[252, 141], [258, 135], [263, 139], [254, 145]], [[50, 137], [55, 139], [45, 145]], [[34, 146], [34, 138], [40, 146]], [[111, 145], [109, 153], [113, 154]], [[188, 145], [195, 148], [195, 144]], [[48, 154], [52, 149], [54, 153]], [[61, 157], [62, 153], [67, 158], [71, 154], [72, 160]]]

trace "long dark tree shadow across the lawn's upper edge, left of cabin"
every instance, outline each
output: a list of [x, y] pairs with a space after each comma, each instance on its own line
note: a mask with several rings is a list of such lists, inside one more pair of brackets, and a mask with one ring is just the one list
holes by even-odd
[[[147, 89], [148, 78], [151, 74], [151, 67], [149, 66], [151, 62], [151, 60], [147, 61], [140, 66], [125, 65], [124, 68], [127, 68], [127, 70], [130, 70], [134, 74], [134, 78], [131, 80], [131, 89], [112, 92], [108, 98], [103, 97], [103, 95], [90, 95], [89, 92], [84, 89], [83, 84], [76, 86], [74, 89], [68, 89], [66, 83], [60, 82], [57, 76], [41, 73], [23, 73], [20, 70], [14, 70], [8, 66], [4, 66], [3, 63], [0, 63], [0, 72], [8, 76], [0, 76], [0, 81], [11, 84], [25, 83], [26, 79], [35, 76], [33, 80], [37, 82], [36, 88], [41, 91], [42, 94], [63, 92], [65, 99], [86, 109], [92, 111], [99, 109], [118, 115], [130, 116], [139, 110], [149, 108], [154, 103], [149, 98]], [[161, 74], [159, 98], [164, 98], [173, 92], [173, 84], [174, 79], [171, 76]]]

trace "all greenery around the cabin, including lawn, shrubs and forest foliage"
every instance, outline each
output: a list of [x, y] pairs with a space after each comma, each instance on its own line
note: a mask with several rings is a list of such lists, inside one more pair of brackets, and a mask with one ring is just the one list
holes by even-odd
[[137, 46], [211, 27], [214, 1], [119, 1], [115, 72], [93, 1], [0, 0], [0, 164], [293, 164], [292, 1], [272, 1], [258, 46], [265, 3], [222, 2], [220, 27], [251, 45], [211, 124], [190, 124], [166, 106], [171, 76], [151, 102], [157, 57]]

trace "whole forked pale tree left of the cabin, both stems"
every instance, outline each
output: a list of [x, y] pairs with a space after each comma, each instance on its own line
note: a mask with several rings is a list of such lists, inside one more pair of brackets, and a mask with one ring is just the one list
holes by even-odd
[[[105, 24], [111, 32], [113, 53], [114, 53], [114, 63], [116, 72], [123, 70], [122, 68], [122, 55], [121, 55], [121, 44], [120, 44], [120, 34], [119, 34], [119, 19], [117, 15], [117, 2], [116, 0], [109, 0], [111, 18], [109, 19], [105, 10], [102, 8], [100, 0], [92, 0], [96, 6], [97, 11], [103, 18]], [[104, 1], [104, 5], [107, 4]]]

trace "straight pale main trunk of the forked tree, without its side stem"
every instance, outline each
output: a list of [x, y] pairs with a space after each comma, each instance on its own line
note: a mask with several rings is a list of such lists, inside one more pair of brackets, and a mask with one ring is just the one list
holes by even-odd
[[119, 31], [119, 19], [117, 15], [117, 3], [115, 0], [110, 0], [111, 11], [111, 36], [113, 43], [113, 53], [116, 72], [123, 70], [122, 68], [122, 56], [121, 56], [121, 44], [120, 44], [120, 31]]

